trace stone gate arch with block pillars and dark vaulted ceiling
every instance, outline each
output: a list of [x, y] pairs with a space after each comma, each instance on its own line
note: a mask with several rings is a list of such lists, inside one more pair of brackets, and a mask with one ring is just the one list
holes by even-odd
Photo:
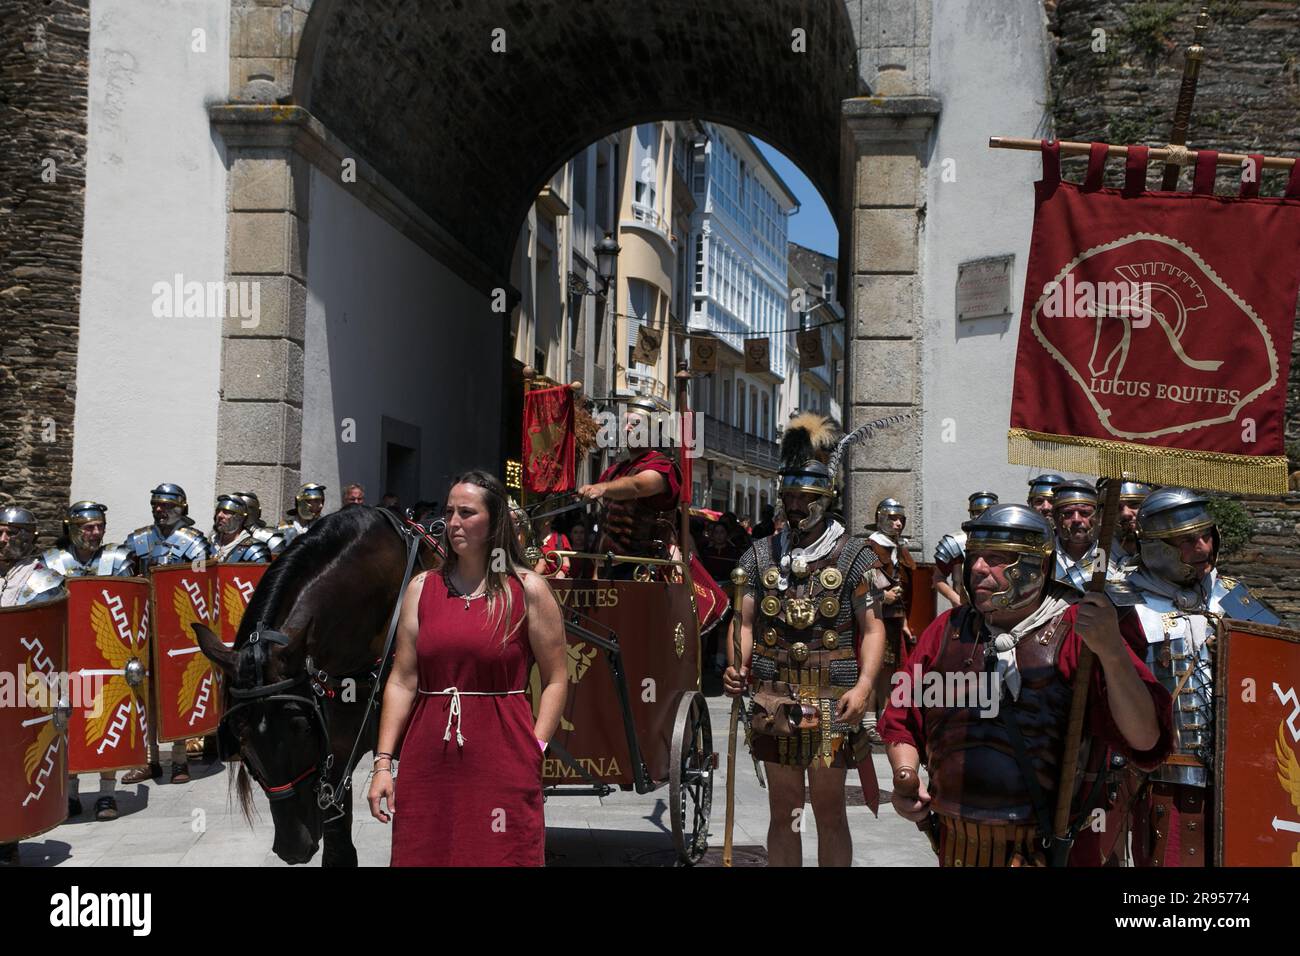
[[[222, 333], [217, 486], [278, 492], [274, 515], [300, 479], [313, 169], [355, 160], [344, 189], [486, 297], [554, 169], [653, 120], [736, 126], [805, 170], [840, 226], [848, 424], [915, 407], [928, 44], [930, 0], [233, 0], [230, 101], [209, 113], [228, 278], [264, 291], [256, 328]], [[896, 494], [919, 540], [919, 428], [864, 459], [852, 527]]]

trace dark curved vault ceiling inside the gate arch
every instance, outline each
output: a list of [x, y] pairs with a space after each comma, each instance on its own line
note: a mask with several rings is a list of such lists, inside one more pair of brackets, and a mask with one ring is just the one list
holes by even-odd
[[508, 261], [524, 211], [559, 163], [644, 121], [754, 133], [838, 212], [840, 104], [858, 92], [842, 4], [437, 7], [317, 0], [294, 101], [489, 267]]

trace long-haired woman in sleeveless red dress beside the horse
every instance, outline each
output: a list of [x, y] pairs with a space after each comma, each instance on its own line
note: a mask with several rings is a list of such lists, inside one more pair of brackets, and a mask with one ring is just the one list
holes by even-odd
[[393, 866], [542, 866], [542, 752], [567, 693], [559, 604], [526, 568], [495, 477], [458, 477], [446, 522], [445, 566], [417, 575], [402, 605], [370, 813], [394, 821]]

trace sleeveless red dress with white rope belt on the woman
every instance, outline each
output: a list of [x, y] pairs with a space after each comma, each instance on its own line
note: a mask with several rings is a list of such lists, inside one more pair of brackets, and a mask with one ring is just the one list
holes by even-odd
[[[523, 691], [533, 654], [524, 589], [510, 580], [512, 626], [489, 632], [485, 598], [450, 596], [439, 574], [424, 579], [417, 640], [420, 691], [402, 743], [393, 814], [393, 866], [542, 866], [542, 750]], [[502, 611], [498, 611], [500, 614]], [[460, 696], [425, 691], [493, 691]], [[443, 740], [451, 717], [450, 740]], [[456, 730], [464, 737], [456, 741]]]

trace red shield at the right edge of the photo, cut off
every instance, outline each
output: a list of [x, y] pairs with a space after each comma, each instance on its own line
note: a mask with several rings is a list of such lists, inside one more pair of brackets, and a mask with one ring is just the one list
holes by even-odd
[[1223, 623], [1216, 857], [1221, 866], [1300, 866], [1300, 631]]

